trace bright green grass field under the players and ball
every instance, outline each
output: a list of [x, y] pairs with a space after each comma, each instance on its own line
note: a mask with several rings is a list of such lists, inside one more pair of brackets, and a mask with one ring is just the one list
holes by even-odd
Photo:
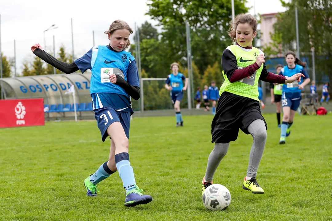
[[83, 180], [108, 160], [95, 121], [47, 122], [0, 129], [0, 220], [332, 220], [331, 116], [295, 116], [279, 144], [275, 114], [257, 180], [265, 194], [242, 189], [252, 137], [241, 131], [214, 176], [232, 197], [225, 211], [208, 211], [201, 181], [213, 148], [212, 116], [134, 118], [129, 156], [149, 204], [124, 207], [119, 173], [86, 197]]

